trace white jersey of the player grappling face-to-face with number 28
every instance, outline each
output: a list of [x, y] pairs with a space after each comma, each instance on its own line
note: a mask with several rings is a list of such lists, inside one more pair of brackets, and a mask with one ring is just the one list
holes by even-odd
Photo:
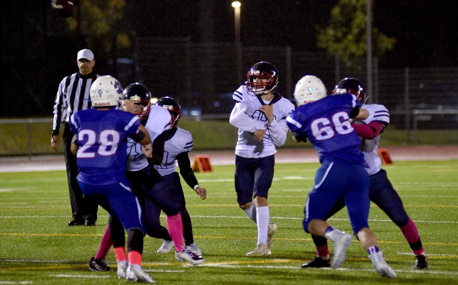
[[[151, 106], [145, 128], [152, 141], [162, 132], [170, 129], [172, 116], [162, 106]], [[141, 152], [141, 145], [131, 138], [127, 138], [127, 170], [138, 171], [148, 166], [148, 160]]]

